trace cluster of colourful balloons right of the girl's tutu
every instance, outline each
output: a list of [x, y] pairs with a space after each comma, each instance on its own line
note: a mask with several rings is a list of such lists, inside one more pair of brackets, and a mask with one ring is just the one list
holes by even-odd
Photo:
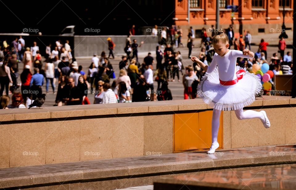
[[259, 64], [253, 64], [251, 72], [261, 79], [264, 90], [271, 90], [271, 83], [269, 80], [273, 78], [273, 72], [269, 70], [269, 65], [267, 63], [263, 63], [261, 68]]

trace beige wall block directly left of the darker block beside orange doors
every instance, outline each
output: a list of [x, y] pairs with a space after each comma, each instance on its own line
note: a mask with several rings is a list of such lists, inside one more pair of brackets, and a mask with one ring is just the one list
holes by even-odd
[[142, 156], [144, 151], [144, 116], [116, 117], [112, 131], [113, 158]]

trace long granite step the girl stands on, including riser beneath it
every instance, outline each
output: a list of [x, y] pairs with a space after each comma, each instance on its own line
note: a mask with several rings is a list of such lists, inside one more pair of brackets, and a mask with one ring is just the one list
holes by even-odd
[[296, 164], [296, 145], [182, 152], [0, 169], [5, 189], [122, 189], [160, 177], [221, 169]]

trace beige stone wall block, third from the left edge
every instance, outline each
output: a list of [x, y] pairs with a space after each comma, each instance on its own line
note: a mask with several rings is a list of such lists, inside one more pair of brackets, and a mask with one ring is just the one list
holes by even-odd
[[84, 120], [46, 122], [46, 164], [80, 160], [80, 126]]

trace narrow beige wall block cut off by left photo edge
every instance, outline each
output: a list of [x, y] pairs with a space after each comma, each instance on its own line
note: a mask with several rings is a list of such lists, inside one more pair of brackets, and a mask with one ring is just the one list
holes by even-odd
[[0, 168], [9, 168], [10, 126], [0, 125]]

